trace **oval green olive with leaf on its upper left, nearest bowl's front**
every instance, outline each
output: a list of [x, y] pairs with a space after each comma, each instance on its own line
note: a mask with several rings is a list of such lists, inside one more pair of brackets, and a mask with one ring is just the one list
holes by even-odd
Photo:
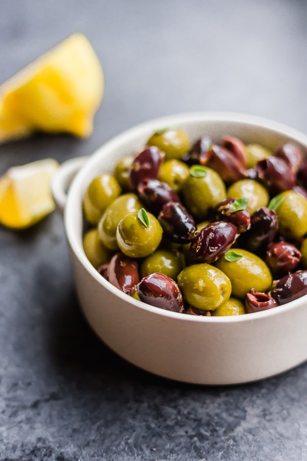
[[[236, 261], [227, 261], [225, 255], [215, 262], [230, 279], [232, 295], [245, 298], [252, 288], [255, 291], [266, 291], [272, 285], [272, 275], [267, 264], [253, 253], [236, 248], [235, 252], [242, 256]], [[226, 254], [227, 257], [227, 254]]]

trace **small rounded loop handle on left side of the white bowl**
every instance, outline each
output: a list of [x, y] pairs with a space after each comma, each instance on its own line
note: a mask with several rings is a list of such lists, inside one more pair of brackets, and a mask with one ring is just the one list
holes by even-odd
[[63, 214], [69, 186], [88, 157], [74, 157], [65, 160], [51, 182], [51, 193], [58, 211]]

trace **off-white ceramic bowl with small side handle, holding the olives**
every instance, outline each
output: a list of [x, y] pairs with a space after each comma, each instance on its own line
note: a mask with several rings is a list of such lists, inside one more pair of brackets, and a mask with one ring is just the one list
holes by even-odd
[[[198, 317], [144, 304], [115, 288], [87, 260], [82, 247], [82, 197], [91, 180], [112, 172], [119, 158], [136, 154], [153, 131], [176, 126], [192, 141], [237, 136], [269, 148], [307, 136], [259, 117], [189, 113], [151, 120], [108, 141], [84, 162], [65, 162], [53, 182], [85, 318], [101, 340], [128, 362], [165, 378], [196, 384], [244, 383], [286, 371], [307, 359], [307, 297], [235, 317]], [[76, 170], [83, 163], [80, 170]], [[75, 174], [76, 173], [76, 174]], [[73, 178], [74, 176], [74, 178]], [[72, 180], [68, 195], [65, 187]]]

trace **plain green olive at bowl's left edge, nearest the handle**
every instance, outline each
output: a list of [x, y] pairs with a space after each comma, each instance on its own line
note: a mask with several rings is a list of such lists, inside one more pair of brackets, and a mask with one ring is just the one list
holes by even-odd
[[94, 178], [83, 198], [83, 211], [86, 220], [98, 224], [106, 207], [121, 193], [121, 187], [114, 176], [104, 173]]

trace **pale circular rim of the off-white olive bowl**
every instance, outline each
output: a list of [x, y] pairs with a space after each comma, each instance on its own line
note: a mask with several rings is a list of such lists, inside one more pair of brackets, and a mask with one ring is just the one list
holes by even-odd
[[[204, 322], [204, 323], [218, 323], [218, 324], [231, 324], [237, 322], [255, 322], [261, 321], [262, 319], [278, 316], [283, 312], [288, 312], [294, 308], [302, 307], [304, 300], [307, 300], [307, 295], [302, 296], [296, 300], [290, 301], [289, 303], [277, 306], [273, 309], [268, 309], [259, 312], [248, 313], [240, 316], [193, 316], [193, 315], [183, 315], [183, 313], [172, 312], [169, 310], [161, 309], [159, 307], [151, 306], [144, 302], [141, 302], [133, 297], [128, 297], [124, 292], [116, 288], [110, 282], [105, 280], [98, 273], [97, 269], [90, 263], [90, 261], [85, 256], [83, 246], [79, 242], [79, 238], [76, 234], [76, 228], [73, 226], [73, 210], [76, 209], [76, 206], [80, 204], [74, 201], [77, 191], [82, 187], [83, 180], [87, 172], [92, 170], [94, 164], [96, 164], [97, 159], [100, 159], [101, 156], [104, 156], [109, 151], [119, 148], [120, 145], [123, 145], [128, 140], [134, 139], [135, 137], [140, 136], [144, 131], [153, 131], [161, 126], [170, 126], [186, 122], [234, 122], [236, 124], [249, 125], [253, 128], [267, 129], [268, 132], [275, 132], [282, 136], [289, 138], [294, 138], [298, 143], [305, 146], [307, 150], [307, 135], [296, 130], [295, 128], [289, 127], [286, 124], [277, 122], [270, 118], [261, 117], [258, 115], [251, 115], [239, 112], [216, 112], [216, 111], [200, 111], [200, 112], [186, 112], [173, 115], [167, 115], [162, 117], [156, 117], [149, 119], [147, 121], [138, 123], [133, 127], [130, 127], [121, 133], [113, 136], [111, 139], [103, 143], [93, 154], [86, 159], [85, 163], [81, 166], [80, 170], [76, 173], [73, 178], [69, 191], [67, 194], [67, 202], [64, 208], [64, 226], [65, 232], [67, 235], [68, 242], [70, 247], [78, 259], [79, 263], [83, 268], [89, 273], [89, 275], [97, 281], [97, 283], [115, 295], [117, 298], [125, 301], [126, 303], [134, 306], [136, 309], [142, 309], [155, 315], [162, 316], [164, 318], [179, 320], [179, 321], [188, 321], [188, 322]], [[82, 239], [81, 239], [82, 241]]]

